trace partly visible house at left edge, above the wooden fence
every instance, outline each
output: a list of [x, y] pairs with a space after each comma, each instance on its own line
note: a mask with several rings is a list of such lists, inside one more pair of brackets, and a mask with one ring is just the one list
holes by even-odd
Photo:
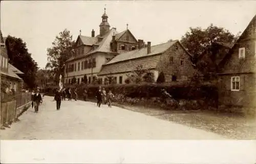
[[20, 92], [23, 80], [18, 75], [24, 74], [20, 72], [16, 67], [8, 63], [9, 58], [7, 54], [7, 49], [5, 45], [5, 40], [1, 32], [1, 57], [0, 57], [0, 68], [1, 68], [1, 83], [5, 82], [8, 86], [6, 87], [6, 92], [10, 92], [12, 89], [15, 92]]

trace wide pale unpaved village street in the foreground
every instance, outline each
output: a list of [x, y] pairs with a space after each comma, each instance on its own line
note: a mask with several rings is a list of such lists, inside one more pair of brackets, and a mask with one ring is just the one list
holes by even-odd
[[62, 101], [58, 111], [52, 97], [44, 98], [38, 113], [30, 107], [19, 120], [1, 130], [1, 139], [223, 139], [116, 106], [72, 100]]

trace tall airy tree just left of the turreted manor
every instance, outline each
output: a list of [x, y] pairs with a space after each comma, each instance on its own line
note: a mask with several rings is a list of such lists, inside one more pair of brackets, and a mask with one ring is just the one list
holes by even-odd
[[52, 48], [47, 49], [47, 65], [53, 70], [56, 79], [59, 75], [64, 77], [65, 62], [74, 54], [74, 44], [70, 31], [65, 29], [56, 36]]

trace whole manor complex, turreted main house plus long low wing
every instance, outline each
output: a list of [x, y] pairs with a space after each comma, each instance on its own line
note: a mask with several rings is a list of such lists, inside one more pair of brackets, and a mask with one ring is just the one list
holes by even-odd
[[[88, 83], [98, 79], [105, 83], [106, 77], [112, 76], [116, 83], [123, 84], [127, 74], [136, 70], [138, 65], [149, 69], [155, 80], [160, 72], [166, 75], [166, 81], [186, 80], [193, 74], [194, 67], [190, 62], [190, 54], [178, 40], [151, 46], [136, 39], [127, 28], [117, 32], [110, 28], [108, 15], [103, 13], [99, 25], [99, 35], [92, 30], [91, 36], [77, 37], [74, 55], [66, 61], [64, 81], [66, 84], [80, 84], [83, 78]], [[192, 71], [191, 71], [192, 70]]]

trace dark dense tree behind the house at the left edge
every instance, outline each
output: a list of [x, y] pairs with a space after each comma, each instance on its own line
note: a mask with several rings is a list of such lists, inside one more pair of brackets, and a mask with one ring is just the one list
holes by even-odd
[[21, 76], [29, 88], [36, 87], [37, 63], [28, 53], [26, 42], [21, 38], [8, 35], [6, 39], [6, 48], [9, 56], [9, 62], [22, 71], [25, 75]]

